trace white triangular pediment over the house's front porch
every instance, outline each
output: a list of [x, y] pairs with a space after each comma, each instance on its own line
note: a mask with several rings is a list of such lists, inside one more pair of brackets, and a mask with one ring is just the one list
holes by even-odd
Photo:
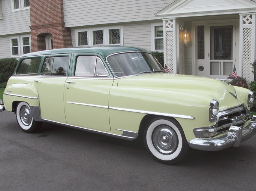
[[226, 15], [256, 12], [253, 0], [176, 0], [158, 13], [159, 18]]

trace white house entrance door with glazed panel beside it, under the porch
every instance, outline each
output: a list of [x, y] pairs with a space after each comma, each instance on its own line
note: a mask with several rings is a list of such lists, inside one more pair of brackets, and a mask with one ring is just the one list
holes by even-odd
[[196, 30], [196, 74], [227, 78], [232, 74], [237, 60], [235, 23], [198, 25]]

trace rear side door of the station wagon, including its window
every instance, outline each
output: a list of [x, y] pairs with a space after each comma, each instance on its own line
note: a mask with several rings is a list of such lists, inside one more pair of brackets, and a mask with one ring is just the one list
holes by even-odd
[[44, 58], [40, 75], [34, 80], [39, 94], [40, 115], [43, 119], [66, 123], [64, 86], [71, 54]]

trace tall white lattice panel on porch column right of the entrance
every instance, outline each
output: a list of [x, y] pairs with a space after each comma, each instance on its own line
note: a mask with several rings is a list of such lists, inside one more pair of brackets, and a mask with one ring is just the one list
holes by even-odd
[[251, 78], [251, 60], [252, 60], [252, 28], [243, 29], [243, 77]]

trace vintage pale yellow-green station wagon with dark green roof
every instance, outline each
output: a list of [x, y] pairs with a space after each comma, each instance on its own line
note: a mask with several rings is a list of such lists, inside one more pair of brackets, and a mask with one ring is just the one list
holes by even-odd
[[112, 137], [144, 138], [158, 162], [190, 147], [238, 147], [256, 132], [254, 93], [225, 80], [167, 73], [147, 50], [74, 47], [23, 55], [0, 110], [34, 132], [51, 122]]

